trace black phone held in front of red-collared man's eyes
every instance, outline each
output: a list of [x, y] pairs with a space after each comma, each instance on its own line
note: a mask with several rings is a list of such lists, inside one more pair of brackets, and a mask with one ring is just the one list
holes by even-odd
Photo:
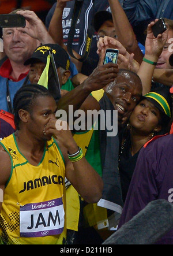
[[0, 14], [1, 28], [24, 28], [26, 20], [20, 14]]

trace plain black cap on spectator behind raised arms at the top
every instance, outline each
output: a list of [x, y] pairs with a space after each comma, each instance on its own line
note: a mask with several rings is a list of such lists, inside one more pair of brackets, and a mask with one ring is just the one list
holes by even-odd
[[97, 12], [93, 18], [93, 27], [95, 28], [95, 31], [97, 32], [101, 25], [107, 20], [112, 20], [112, 14], [110, 12], [107, 10], [100, 10]]

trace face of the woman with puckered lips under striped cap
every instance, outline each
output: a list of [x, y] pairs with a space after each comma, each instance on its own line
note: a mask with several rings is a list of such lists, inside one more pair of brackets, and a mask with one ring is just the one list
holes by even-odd
[[160, 131], [160, 120], [161, 117], [159, 109], [157, 109], [157, 107], [147, 99], [143, 99], [131, 113], [130, 125], [144, 133], [144, 135], [149, 135], [153, 131]]

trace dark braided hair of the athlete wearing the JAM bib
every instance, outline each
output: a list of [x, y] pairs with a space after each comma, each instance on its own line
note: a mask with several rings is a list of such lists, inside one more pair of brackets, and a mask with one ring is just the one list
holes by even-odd
[[18, 111], [23, 109], [27, 110], [29, 113], [32, 113], [32, 107], [37, 97], [52, 97], [52, 95], [44, 86], [40, 86], [39, 84], [26, 84], [25, 86], [22, 86], [14, 95], [14, 123], [17, 129], [20, 129], [20, 116]]

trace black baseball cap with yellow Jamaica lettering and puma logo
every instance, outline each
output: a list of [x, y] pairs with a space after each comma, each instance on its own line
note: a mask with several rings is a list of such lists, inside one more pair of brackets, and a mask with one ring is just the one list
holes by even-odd
[[52, 43], [43, 44], [42, 46], [37, 47], [31, 58], [25, 61], [24, 65], [32, 64], [36, 60], [47, 63], [47, 57], [50, 54], [50, 51], [54, 54], [54, 60], [57, 68], [61, 66], [63, 69], [68, 70], [70, 66], [69, 55], [61, 46]]

